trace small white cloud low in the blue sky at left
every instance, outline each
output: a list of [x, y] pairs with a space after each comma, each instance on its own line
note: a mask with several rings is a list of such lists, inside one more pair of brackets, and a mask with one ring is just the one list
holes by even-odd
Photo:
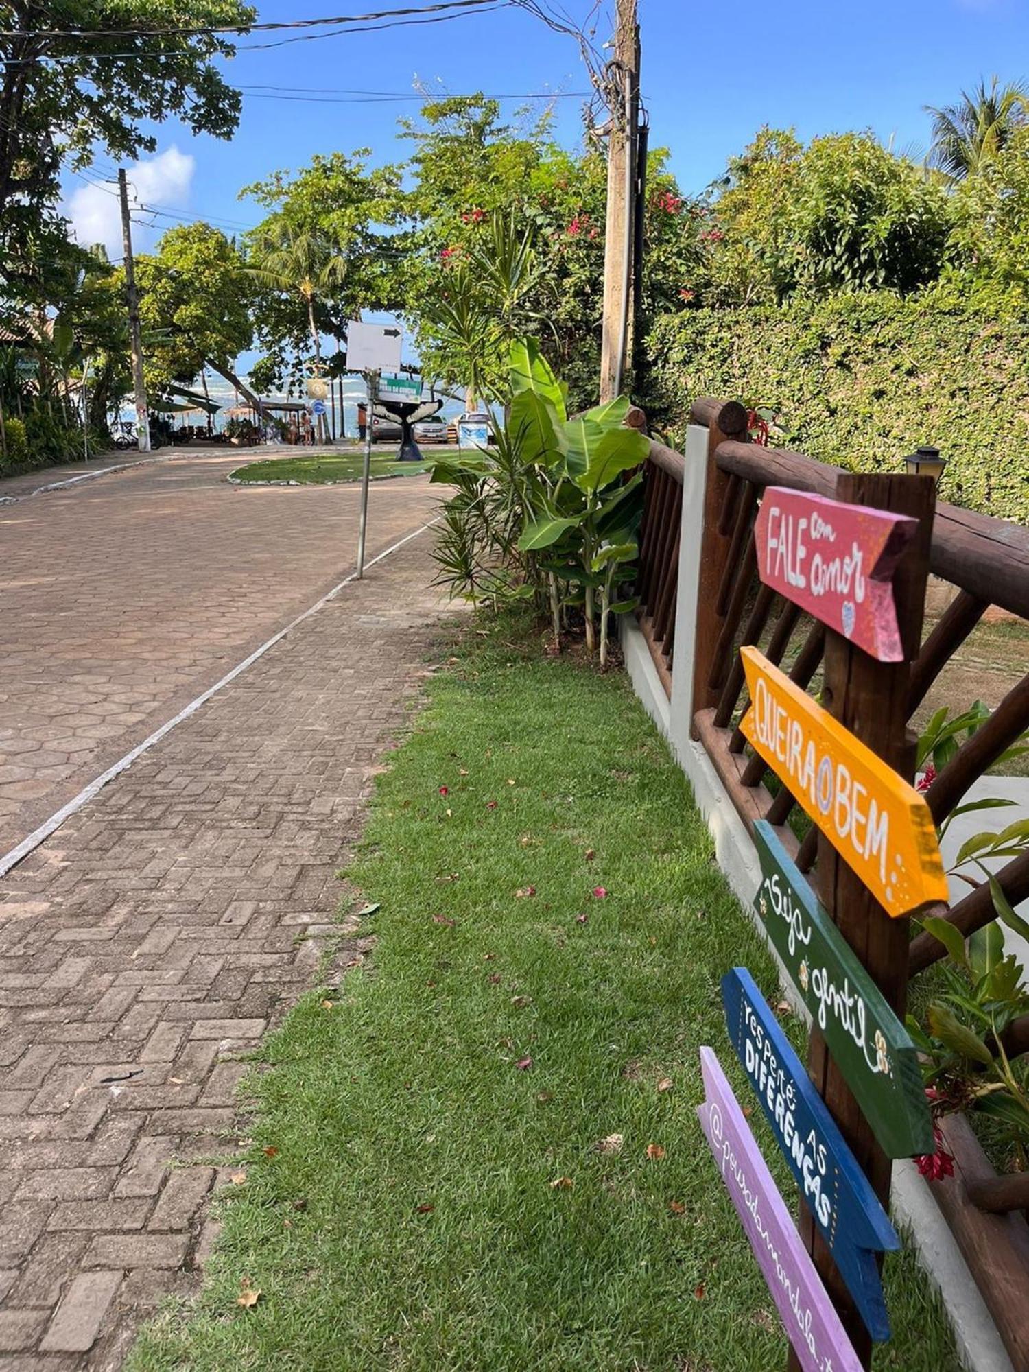
[[[152, 247], [172, 221], [155, 220], [140, 206], [151, 204], [181, 211], [189, 200], [189, 188], [196, 163], [188, 152], [169, 148], [148, 162], [134, 162], [126, 167], [129, 178], [129, 206], [132, 215], [132, 246], [134, 251]], [[91, 177], [91, 180], [96, 180]], [[122, 255], [122, 221], [118, 204], [118, 182], [78, 185], [64, 203], [64, 214], [71, 221], [71, 236], [82, 247], [103, 243], [111, 258]], [[150, 225], [154, 225], [152, 228]]]

